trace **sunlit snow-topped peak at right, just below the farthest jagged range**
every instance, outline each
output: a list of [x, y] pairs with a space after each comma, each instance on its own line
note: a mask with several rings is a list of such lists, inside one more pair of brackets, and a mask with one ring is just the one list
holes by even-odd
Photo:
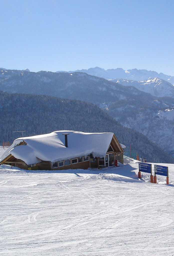
[[124, 86], [134, 86], [140, 91], [150, 93], [157, 97], [174, 98], [174, 86], [157, 77], [145, 81], [131, 81], [125, 79], [110, 79], [109, 81], [120, 83]]

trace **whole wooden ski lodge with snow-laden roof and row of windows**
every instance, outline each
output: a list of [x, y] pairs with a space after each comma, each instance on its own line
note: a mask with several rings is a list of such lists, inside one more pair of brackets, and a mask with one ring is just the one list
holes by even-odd
[[123, 163], [123, 148], [111, 132], [56, 131], [16, 139], [0, 163], [29, 170], [101, 168]]

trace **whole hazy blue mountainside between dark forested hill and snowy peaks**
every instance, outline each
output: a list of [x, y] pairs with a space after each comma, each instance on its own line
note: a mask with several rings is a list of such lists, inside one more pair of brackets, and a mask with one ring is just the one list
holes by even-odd
[[158, 98], [135, 87], [81, 72], [5, 70], [0, 72], [0, 90], [46, 94], [96, 104], [120, 124], [142, 132], [174, 155], [174, 144], [171, 143], [174, 141], [174, 116], [171, 114], [169, 118], [169, 111], [166, 111], [173, 112], [174, 98]]

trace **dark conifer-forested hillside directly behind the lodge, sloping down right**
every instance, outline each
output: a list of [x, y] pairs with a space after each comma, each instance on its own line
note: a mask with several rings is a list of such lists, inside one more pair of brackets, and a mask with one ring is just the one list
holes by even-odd
[[120, 143], [130, 144], [132, 151], [151, 162], [174, 163], [173, 157], [150, 142], [144, 135], [123, 127], [97, 106], [45, 95], [9, 94], [0, 92], [0, 143], [24, 136], [57, 130], [114, 132]]

